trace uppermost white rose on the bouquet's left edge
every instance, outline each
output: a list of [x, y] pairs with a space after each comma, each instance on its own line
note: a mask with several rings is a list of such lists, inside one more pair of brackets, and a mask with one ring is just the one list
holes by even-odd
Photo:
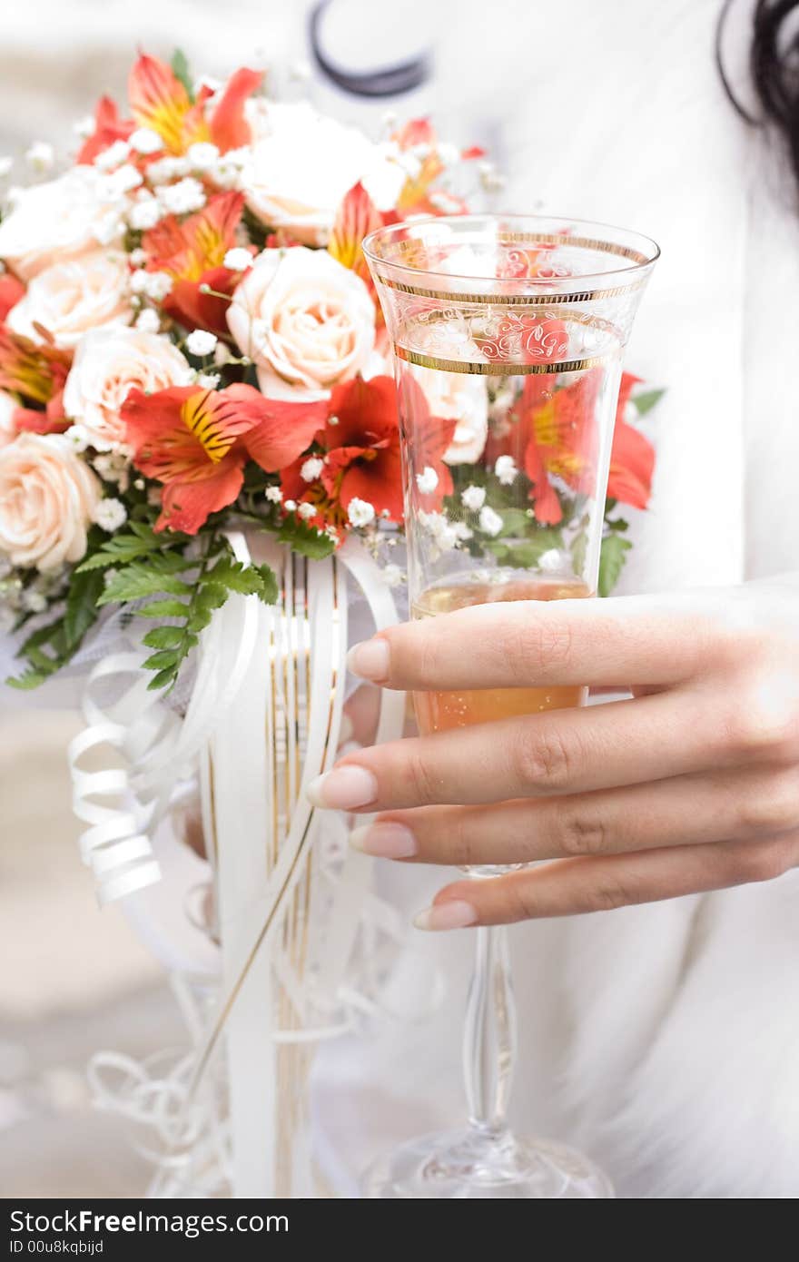
[[[92, 167], [73, 167], [58, 179], [23, 188], [0, 223], [0, 259], [23, 278], [53, 262], [76, 259], [97, 245], [115, 204], [102, 175]], [[109, 245], [121, 242], [121, 231]]]

